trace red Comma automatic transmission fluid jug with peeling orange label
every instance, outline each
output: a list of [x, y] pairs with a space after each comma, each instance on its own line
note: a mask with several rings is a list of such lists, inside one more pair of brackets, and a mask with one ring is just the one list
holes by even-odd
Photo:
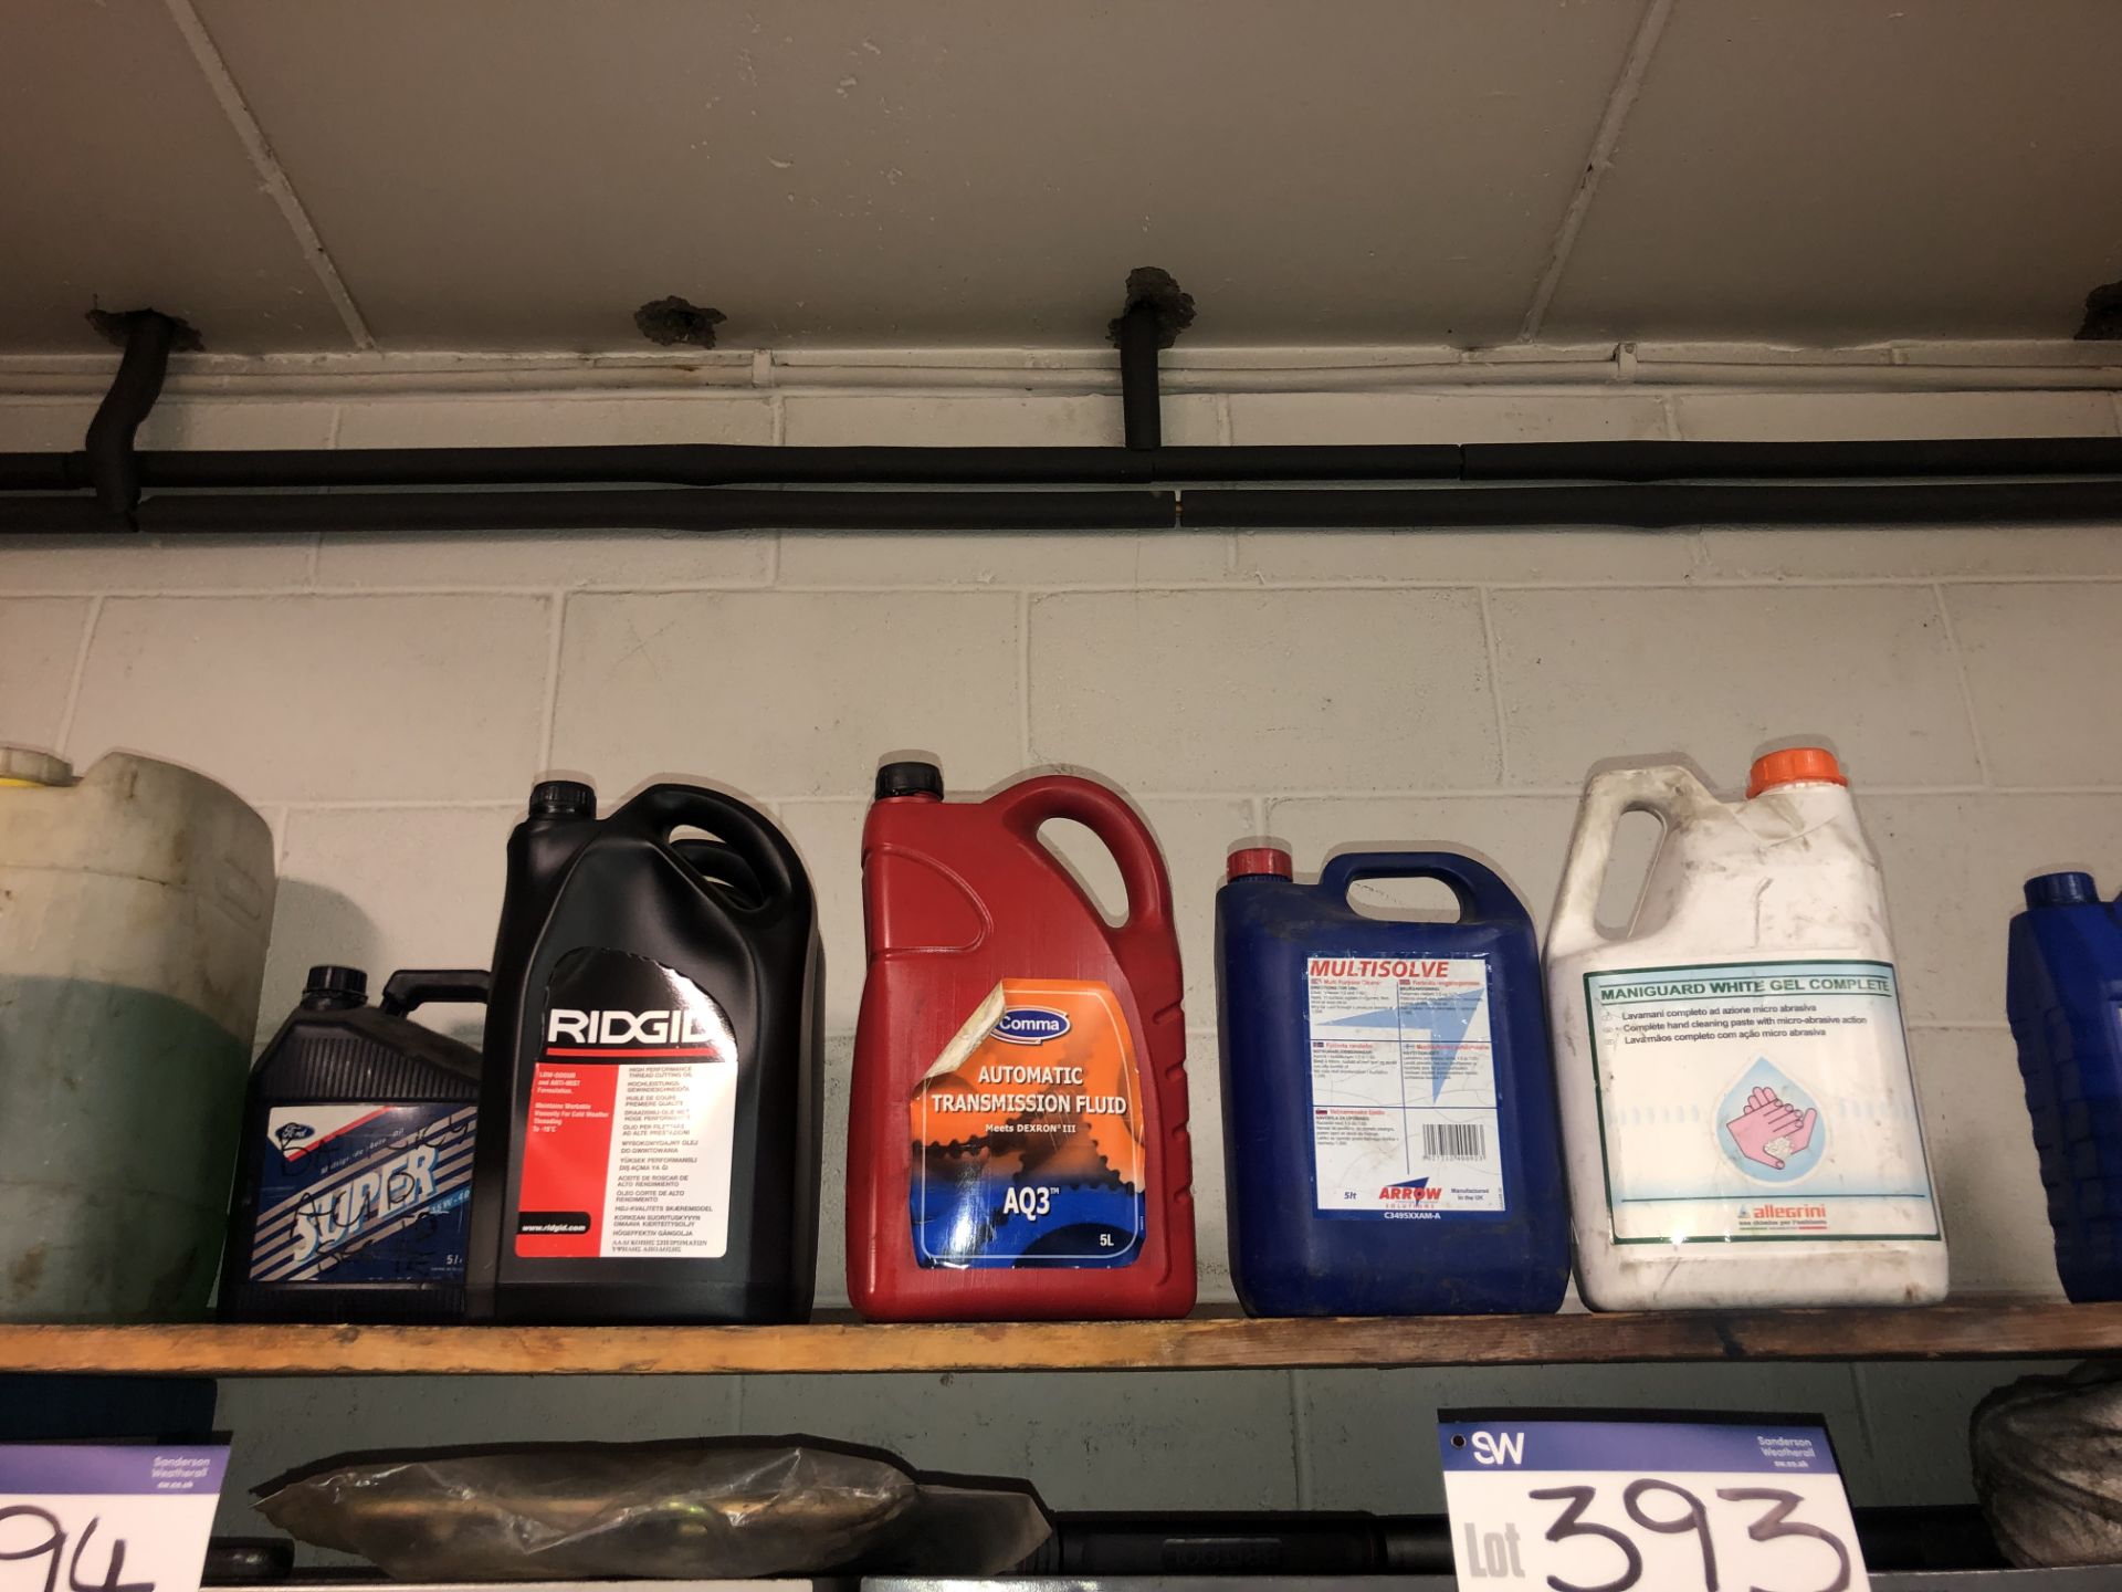
[[[1038, 830], [1112, 851], [1112, 928]], [[862, 836], [870, 970], [847, 1142], [847, 1286], [872, 1320], [1184, 1316], [1186, 1025], [1156, 841], [1089, 779], [946, 802], [887, 764]]]

